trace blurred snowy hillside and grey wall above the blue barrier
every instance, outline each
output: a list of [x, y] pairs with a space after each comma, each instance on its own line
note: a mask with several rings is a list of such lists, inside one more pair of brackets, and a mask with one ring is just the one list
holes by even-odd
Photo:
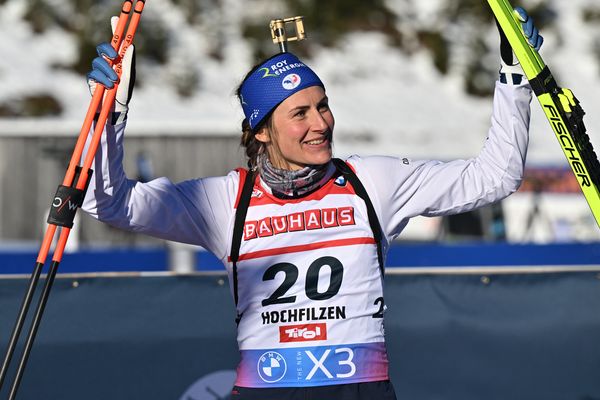
[[[588, 112], [588, 133], [600, 148], [600, 4], [519, 5], [545, 37], [542, 56], [558, 83], [571, 88]], [[85, 74], [95, 45], [110, 39], [109, 18], [119, 9], [120, 2], [108, 0], [0, 0], [4, 252], [33, 249], [41, 240], [89, 103]], [[479, 152], [499, 69], [498, 34], [484, 1], [152, 0], [135, 40], [128, 175], [179, 181], [244, 165], [235, 88], [252, 65], [277, 51], [269, 21], [295, 15], [305, 17], [309, 39], [290, 50], [327, 86], [337, 123], [336, 156], [445, 161]], [[415, 218], [400, 243], [600, 240], [536, 99], [532, 109], [519, 192], [476, 212]], [[82, 212], [78, 218], [71, 251], [177, 247], [112, 230]]]

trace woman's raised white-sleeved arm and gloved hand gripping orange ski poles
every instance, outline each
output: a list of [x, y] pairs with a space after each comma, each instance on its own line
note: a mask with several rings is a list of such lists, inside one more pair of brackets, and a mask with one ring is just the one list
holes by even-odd
[[[223, 257], [227, 221], [237, 192], [238, 175], [173, 183], [158, 178], [147, 183], [128, 179], [123, 170], [123, 139], [129, 100], [135, 83], [133, 46], [123, 57], [123, 72], [112, 118], [98, 149], [82, 209], [111, 226], [167, 240], [200, 245]], [[112, 88], [117, 77], [106, 59], [116, 52], [98, 46], [99, 57], [88, 74], [91, 90], [101, 84]]]

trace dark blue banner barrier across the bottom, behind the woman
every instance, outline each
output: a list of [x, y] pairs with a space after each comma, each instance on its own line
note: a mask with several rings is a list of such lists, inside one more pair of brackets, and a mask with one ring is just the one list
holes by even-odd
[[[26, 286], [0, 279], [2, 356]], [[598, 272], [388, 274], [385, 296], [399, 399], [600, 399]], [[234, 317], [224, 275], [60, 276], [18, 397], [228, 399]]]

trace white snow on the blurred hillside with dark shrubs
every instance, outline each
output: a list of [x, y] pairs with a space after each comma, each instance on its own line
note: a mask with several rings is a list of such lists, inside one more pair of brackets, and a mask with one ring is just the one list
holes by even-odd
[[[24, 3], [9, 0], [0, 6], [3, 38], [0, 101], [40, 91], [59, 93], [65, 111], [55, 123], [74, 125], [83, 118], [89, 100], [85, 79], [52, 69], [51, 65], [71, 62], [75, 57], [75, 44], [64, 32], [52, 30], [44, 35], [31, 32], [20, 18]], [[401, 20], [406, 22], [410, 18], [411, 24], [422, 26], [439, 23], [442, 3], [441, 0], [388, 0], [392, 10], [410, 10]], [[600, 96], [600, 80], [598, 59], [590, 49], [599, 34], [597, 28], [583, 25], [581, 21], [581, 8], [593, 2], [554, 1], [553, 4], [560, 15], [559, 23], [555, 29], [543, 32], [546, 44], [542, 54], [559, 82], [569, 85], [588, 110], [586, 125], [594, 142], [600, 132], [600, 114], [593, 108]], [[172, 61], [162, 69], [138, 65], [144, 85], [136, 88], [131, 102], [132, 131], [140, 132], [158, 123], [174, 131], [192, 132], [195, 127], [199, 131], [217, 133], [238, 131], [242, 114], [233, 92], [253, 64], [249, 46], [241, 40], [239, 28], [240, 21], [250, 12], [247, 9], [252, 7], [245, 8], [242, 2], [228, 0], [223, 15], [210, 15], [213, 25], [224, 24], [223, 32], [229, 37], [223, 49], [225, 60], [220, 62], [206, 55], [210, 40], [214, 40], [208, 29], [198, 32], [190, 28], [184, 23], [181, 10], [166, 0], [148, 2], [144, 12], [153, 18], [160, 16], [167, 29], [177, 33], [170, 38], [170, 51], [177, 56], [171, 57]], [[253, 12], [262, 11], [255, 8]], [[151, 29], [143, 22], [144, 19], [140, 29]], [[452, 26], [448, 31], [459, 32]], [[310, 32], [308, 34], [310, 37]], [[265, 40], [269, 40], [267, 31]], [[468, 38], [466, 40], [468, 42]], [[497, 39], [491, 33], [486, 40]], [[337, 155], [360, 151], [361, 154], [447, 160], [470, 157], [480, 149], [489, 126], [491, 99], [466, 95], [458, 71], [451, 69], [447, 76], [440, 75], [425, 50], [404, 54], [391, 48], [378, 33], [350, 34], [335, 49], [313, 46], [317, 51], [308, 63], [327, 86], [336, 116]], [[453, 62], [460, 62], [456, 60], [461, 57], [460, 52], [453, 57]], [[197, 68], [201, 76], [202, 90], [191, 98], [180, 97], [164, 84], [186, 68]], [[532, 108], [529, 162], [564, 163], [564, 156], [535, 100]], [[4, 120], [0, 127], [3, 131], [18, 130], [19, 124], [25, 123], [28, 122]]]

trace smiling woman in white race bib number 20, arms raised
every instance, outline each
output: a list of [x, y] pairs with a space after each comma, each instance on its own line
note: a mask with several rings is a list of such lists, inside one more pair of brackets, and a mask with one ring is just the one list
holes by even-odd
[[[518, 11], [539, 48], [531, 19]], [[108, 47], [99, 52], [113, 58]], [[89, 78], [112, 87], [116, 75], [103, 63], [96, 61]], [[531, 101], [519, 70], [503, 63], [479, 156], [344, 162], [332, 158], [324, 84], [293, 54], [278, 54], [238, 89], [249, 170], [178, 184], [140, 183], [123, 172], [133, 84], [124, 84], [126, 73], [83, 208], [122, 229], [203, 246], [222, 260], [238, 313], [233, 399], [395, 399], [383, 329], [385, 254], [411, 217], [465, 212], [519, 187]]]

